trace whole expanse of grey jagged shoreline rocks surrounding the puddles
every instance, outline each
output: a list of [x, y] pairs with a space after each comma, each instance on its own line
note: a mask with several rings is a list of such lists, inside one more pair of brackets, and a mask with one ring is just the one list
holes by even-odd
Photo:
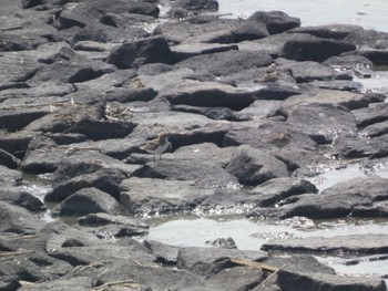
[[[256, 251], [153, 240], [144, 218], [388, 217], [388, 33], [303, 27], [215, 0], [3, 0], [0, 290], [387, 290], [313, 254], [376, 254], [385, 235], [273, 239]], [[211, 13], [210, 13], [211, 12]], [[141, 149], [160, 133], [161, 158]], [[357, 160], [363, 178], [308, 178]], [[25, 175], [50, 184], [39, 199]], [[76, 225], [53, 216], [76, 217]]]

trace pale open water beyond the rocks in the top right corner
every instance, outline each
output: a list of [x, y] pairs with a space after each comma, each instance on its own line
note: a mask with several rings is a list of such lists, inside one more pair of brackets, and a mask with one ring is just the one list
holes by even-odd
[[388, 2], [380, 0], [218, 0], [219, 13], [247, 18], [255, 11], [280, 10], [297, 17], [303, 27], [356, 24], [388, 31]]

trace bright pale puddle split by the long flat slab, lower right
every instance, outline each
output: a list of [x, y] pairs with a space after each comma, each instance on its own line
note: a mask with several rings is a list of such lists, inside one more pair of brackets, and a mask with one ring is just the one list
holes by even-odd
[[[169, 221], [154, 220], [149, 240], [177, 247], [211, 247], [218, 238], [232, 238], [241, 250], [259, 250], [270, 239], [334, 237], [345, 235], [387, 233], [388, 221], [338, 219], [313, 221], [294, 217], [282, 221], [252, 221], [242, 217], [204, 218], [181, 217]], [[339, 274], [382, 278], [388, 268], [388, 257], [329, 257], [315, 256]]]

